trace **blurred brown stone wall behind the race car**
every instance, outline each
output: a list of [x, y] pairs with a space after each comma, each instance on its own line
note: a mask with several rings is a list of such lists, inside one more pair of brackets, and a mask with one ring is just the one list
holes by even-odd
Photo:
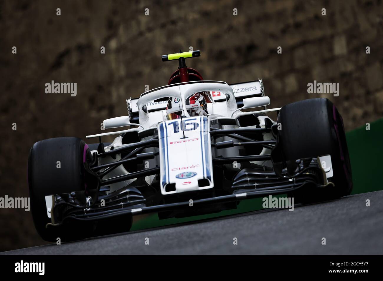
[[[380, 118], [382, 2], [1, 0], [0, 197], [28, 197], [34, 142], [100, 132], [102, 120], [126, 115], [126, 98], [167, 83], [177, 62], [160, 56], [179, 48], [201, 50], [188, 65], [206, 80], [262, 78], [273, 107], [323, 96], [346, 130]], [[51, 80], [77, 83], [77, 96], [46, 94]], [[339, 83], [339, 96], [308, 94], [314, 80]], [[0, 209], [0, 251], [40, 244], [30, 212]]]

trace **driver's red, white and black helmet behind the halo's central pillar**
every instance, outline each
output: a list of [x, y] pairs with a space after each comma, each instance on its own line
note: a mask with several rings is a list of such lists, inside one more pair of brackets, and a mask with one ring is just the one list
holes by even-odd
[[[208, 106], [206, 99], [202, 93], [195, 93], [186, 99], [186, 110], [190, 116], [208, 114]], [[168, 120], [180, 118], [182, 115], [182, 102], [178, 97], [169, 97], [166, 107], [166, 115]]]

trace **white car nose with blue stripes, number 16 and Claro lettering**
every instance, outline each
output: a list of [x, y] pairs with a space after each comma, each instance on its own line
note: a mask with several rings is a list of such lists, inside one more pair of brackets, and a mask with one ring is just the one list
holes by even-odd
[[159, 125], [162, 194], [214, 186], [207, 120], [206, 116], [185, 117], [182, 125], [181, 119]]

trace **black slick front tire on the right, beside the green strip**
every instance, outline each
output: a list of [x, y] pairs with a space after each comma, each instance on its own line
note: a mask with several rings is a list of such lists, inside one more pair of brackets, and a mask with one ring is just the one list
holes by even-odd
[[352, 173], [342, 117], [325, 98], [306, 99], [280, 110], [278, 145], [285, 160], [331, 156], [333, 177], [328, 188], [302, 188], [288, 194], [295, 202], [310, 203], [349, 195]]

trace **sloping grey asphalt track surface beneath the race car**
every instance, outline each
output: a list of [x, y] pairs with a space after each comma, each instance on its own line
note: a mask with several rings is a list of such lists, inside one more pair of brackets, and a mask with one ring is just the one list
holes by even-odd
[[255, 211], [1, 254], [383, 254], [382, 201], [383, 191], [369, 192], [294, 211]]

